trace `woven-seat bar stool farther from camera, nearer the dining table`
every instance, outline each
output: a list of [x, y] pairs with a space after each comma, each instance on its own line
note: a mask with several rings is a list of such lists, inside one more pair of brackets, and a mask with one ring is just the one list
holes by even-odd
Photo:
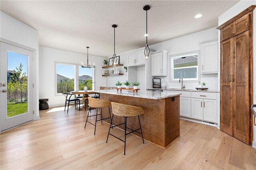
[[[89, 113], [90, 113], [90, 110], [91, 110], [91, 109], [89, 109], [88, 115], [87, 115], [87, 119], [86, 119], [86, 122], [85, 122], [85, 125], [84, 125], [84, 128], [86, 127], [86, 123], [87, 123], [87, 122], [90, 123], [90, 122], [88, 121], [88, 117], [96, 116], [95, 125], [92, 124], [92, 123], [90, 123], [90, 124], [92, 124], [93, 126], [95, 126], [95, 128], [94, 128], [94, 135], [95, 135], [95, 132], [96, 132], [96, 123], [97, 123], [97, 121], [101, 121], [101, 124], [102, 124], [102, 120], [111, 119], [110, 108], [109, 108], [109, 107], [111, 106], [111, 102], [110, 102], [110, 101], [106, 101], [106, 100], [95, 99], [95, 98], [91, 98], [91, 97], [88, 97], [88, 101], [89, 101], [90, 107], [93, 107], [93, 108], [96, 108], [96, 109], [97, 109], [97, 113], [96, 113], [96, 115], [91, 115], [91, 116], [89, 116]], [[110, 116], [110, 117], [102, 119], [102, 108], [104, 108], [104, 107], [108, 107], [108, 111], [109, 111], [109, 116]], [[101, 119], [100, 119], [100, 120], [97, 120], [98, 109], [101, 109], [101, 113], [99, 114], [99, 115], [101, 115]]]

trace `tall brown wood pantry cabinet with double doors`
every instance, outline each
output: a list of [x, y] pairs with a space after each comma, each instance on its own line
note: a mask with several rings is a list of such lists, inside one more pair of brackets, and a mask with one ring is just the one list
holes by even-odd
[[[249, 7], [250, 8], [250, 7]], [[252, 144], [251, 6], [220, 29], [220, 130]]]

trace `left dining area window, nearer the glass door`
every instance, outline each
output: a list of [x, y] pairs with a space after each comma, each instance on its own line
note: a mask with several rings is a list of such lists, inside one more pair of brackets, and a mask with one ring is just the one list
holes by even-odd
[[69, 93], [75, 87], [75, 65], [56, 64], [56, 92]]

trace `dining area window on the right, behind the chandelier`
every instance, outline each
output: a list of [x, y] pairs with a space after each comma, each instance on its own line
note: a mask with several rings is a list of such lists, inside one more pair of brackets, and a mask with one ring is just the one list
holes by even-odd
[[79, 90], [84, 90], [84, 86], [87, 86], [88, 90], [92, 90], [92, 70], [93, 68], [79, 67]]

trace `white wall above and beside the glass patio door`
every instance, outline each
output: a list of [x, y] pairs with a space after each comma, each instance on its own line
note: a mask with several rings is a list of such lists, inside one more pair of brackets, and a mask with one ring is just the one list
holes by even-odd
[[39, 119], [39, 78], [38, 78], [38, 30], [0, 12], [1, 42], [10, 43], [18, 47], [34, 51], [34, 119]]

